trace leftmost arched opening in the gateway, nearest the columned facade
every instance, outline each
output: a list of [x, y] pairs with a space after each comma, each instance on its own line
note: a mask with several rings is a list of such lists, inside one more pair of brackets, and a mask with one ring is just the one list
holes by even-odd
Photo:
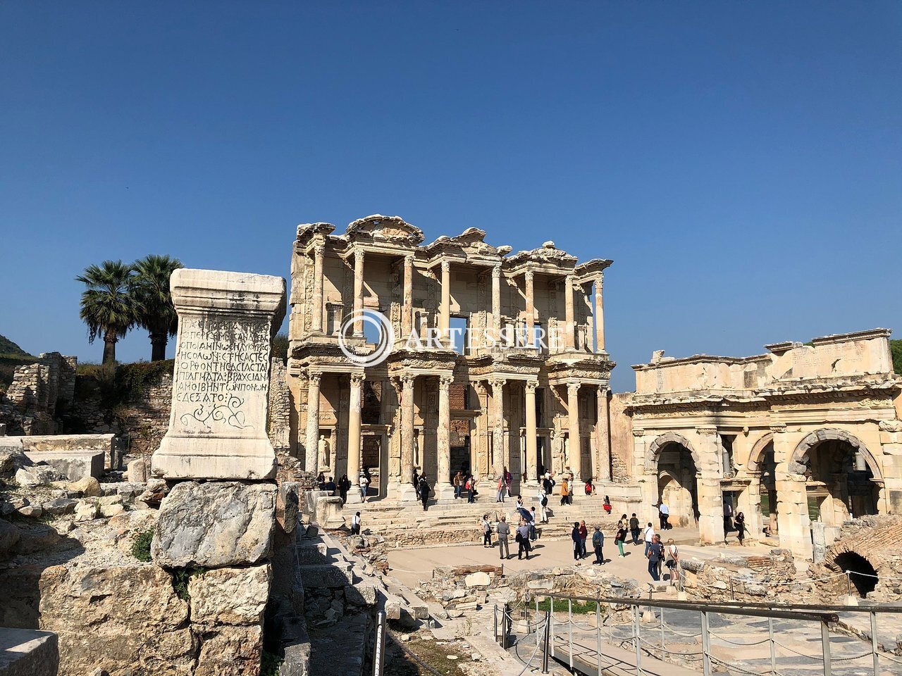
[[670, 510], [670, 524], [698, 523], [698, 467], [692, 447], [678, 434], [665, 434], [652, 444], [651, 461], [658, 477], [658, 501]]

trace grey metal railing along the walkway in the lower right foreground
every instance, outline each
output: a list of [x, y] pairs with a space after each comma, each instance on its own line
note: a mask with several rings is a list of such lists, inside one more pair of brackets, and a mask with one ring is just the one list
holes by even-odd
[[[539, 610], [540, 599], [545, 599], [548, 603], [548, 609]], [[555, 600], [559, 602], [566, 601], [566, 621], [555, 617]], [[585, 625], [575, 620], [574, 603], [586, 605], [594, 604], [595, 626]], [[614, 617], [614, 608], [622, 611], [631, 607], [631, 619], [629, 622], [618, 623]], [[643, 608], [645, 613], [658, 611], [657, 617], [652, 617], [649, 622], [644, 622]], [[697, 634], [679, 631], [676, 626], [668, 624], [665, 611], [690, 611], [699, 615], [699, 629]], [[839, 621], [839, 613], [867, 613], [870, 617], [870, 631], [862, 631], [864, 636], [862, 644], [870, 639], [870, 649], [860, 654], [833, 654], [830, 632], [831, 625], [836, 625]], [[866, 658], [871, 658], [872, 669], [874, 674], [880, 674], [881, 660], [887, 665], [887, 673], [898, 673], [902, 671], [902, 655], [889, 653], [881, 650], [878, 640], [878, 616], [880, 613], [902, 614], [902, 606], [827, 606], [827, 605], [784, 605], [784, 604], [768, 604], [768, 603], [743, 603], [739, 601], [724, 601], [716, 603], [693, 603], [686, 601], [666, 601], [652, 600], [643, 598], [603, 598], [603, 597], [580, 597], [568, 596], [564, 594], [544, 594], [535, 598], [535, 621], [530, 623], [529, 618], [526, 619], [526, 631], [520, 632], [525, 634], [527, 638], [532, 634], [536, 636], [536, 648], [529, 657], [529, 661], [524, 662], [520, 657], [520, 661], [525, 663], [523, 671], [525, 672], [531, 665], [539, 650], [542, 651], [542, 673], [548, 673], [548, 660], [556, 659], [566, 663], [570, 671], [574, 671], [575, 662], [582, 662], [585, 666], [593, 666], [595, 673], [602, 673], [604, 668], [604, 650], [603, 650], [603, 634], [606, 634], [606, 640], [609, 644], [622, 647], [624, 644], [630, 645], [630, 653], [634, 653], [635, 664], [631, 667], [637, 676], [645, 673], [642, 667], [643, 657], [647, 663], [649, 658], [654, 658], [653, 662], [676, 662], [691, 663], [697, 668], [697, 663], [701, 662], [704, 676], [711, 676], [713, 670], [717, 667], [723, 667], [736, 673], [749, 673], [755, 676], [764, 673], [770, 673], [771, 676], [782, 676], [778, 669], [778, 649], [784, 653], [784, 657], [797, 659], [798, 656], [808, 658], [810, 660], [819, 661], [823, 665], [824, 676], [832, 676], [833, 663], [857, 662]], [[577, 613], [582, 615], [584, 613]], [[732, 617], [759, 617], [767, 619], [768, 634], [760, 640], [736, 641], [723, 635], [717, 635], [713, 632], [711, 626], [712, 616], [732, 616]], [[539, 619], [541, 618], [541, 619]], [[647, 618], [648, 619], [648, 618]], [[793, 620], [801, 623], [815, 622], [820, 628], [820, 654], [802, 653], [799, 650], [783, 643], [775, 631], [775, 620]], [[510, 635], [513, 632], [513, 623], [516, 618], [505, 608], [495, 607], [495, 639], [502, 644], [505, 649], [511, 647]], [[644, 628], [643, 628], [643, 625]], [[649, 626], [650, 625], [650, 626]], [[615, 635], [615, 629], [622, 629], [630, 626], [627, 635]], [[566, 627], [566, 629], [564, 628]], [[607, 632], [603, 629], [606, 628]], [[804, 626], [802, 626], [805, 629]], [[657, 640], [651, 640], [650, 637], [660, 630], [660, 644]], [[574, 630], [580, 632], [581, 635], [574, 636]], [[566, 631], [566, 636], [564, 632]], [[644, 635], [643, 635], [644, 633]], [[594, 634], [594, 646], [586, 644], [586, 637]], [[667, 649], [667, 634], [678, 637], [673, 643], [681, 643], [686, 645], [686, 639], [691, 644], [700, 644], [700, 650], [695, 652], [674, 651]], [[781, 634], [782, 635], [782, 634]], [[848, 635], [848, 633], [846, 634]], [[746, 665], [738, 665], [723, 659], [713, 653], [712, 638], [719, 641], [722, 645], [741, 646], [750, 648], [758, 645], [768, 644], [769, 650], [760, 650], [758, 657], [746, 658], [746, 662], [758, 661], [753, 668]], [[680, 641], [679, 639], [683, 639]], [[808, 641], [816, 638], [809, 638]], [[531, 643], [530, 643], [531, 645]], [[847, 644], [844, 644], [847, 645]], [[563, 646], [566, 648], [562, 649]], [[671, 645], [671, 647], [675, 647]], [[516, 650], [516, 644], [514, 644]], [[519, 655], [519, 653], [518, 653]], [[594, 659], [593, 659], [594, 658]], [[591, 662], [594, 662], [592, 664]], [[659, 666], [659, 662], [658, 662]], [[788, 666], [788, 665], [787, 665]], [[621, 669], [630, 669], [620, 663]], [[649, 665], [650, 667], [650, 665]], [[769, 667], [769, 668], [768, 668]], [[861, 669], [861, 667], [859, 667]], [[859, 671], [860, 672], [860, 671]], [[521, 672], [522, 673], [522, 672]]]

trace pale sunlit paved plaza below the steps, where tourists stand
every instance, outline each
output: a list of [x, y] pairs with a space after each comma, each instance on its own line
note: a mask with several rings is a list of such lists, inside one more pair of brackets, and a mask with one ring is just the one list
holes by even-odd
[[[674, 528], [667, 531], [667, 537], [673, 537], [675, 540], [689, 539], [694, 532], [688, 528]], [[569, 566], [574, 563], [573, 548], [569, 541], [546, 541], [538, 540], [535, 543], [532, 556], [529, 561], [518, 561], [516, 555], [517, 544], [511, 541], [511, 553], [513, 558], [504, 561], [505, 570], [509, 571], [529, 571], [543, 568], [552, 568], [554, 566]], [[686, 557], [695, 557], [701, 559], [715, 558], [720, 553], [729, 552], [736, 553], [756, 553], [767, 554], [770, 548], [765, 545], [755, 547], [695, 547], [690, 545], [679, 545], [680, 555]], [[641, 582], [650, 581], [649, 562], [644, 558], [645, 546], [640, 540], [639, 545], [625, 544], [623, 552], [626, 554], [624, 558], [618, 555], [617, 547], [613, 544], [613, 538], [606, 539], [604, 547], [605, 564], [603, 570], [610, 572], [612, 575], [623, 578], [632, 578]], [[586, 557], [581, 565], [591, 566], [594, 561], [594, 554]], [[462, 544], [452, 547], [430, 547], [411, 550], [391, 550], [389, 552], [390, 573], [398, 580], [404, 582], [410, 587], [416, 587], [419, 580], [428, 580], [432, 577], [432, 569], [436, 566], [447, 565], [472, 565], [486, 564], [498, 565], [502, 563], [499, 558], [498, 544], [493, 543], [492, 549], [487, 549], [480, 544]], [[599, 566], [594, 566], [598, 568]]]

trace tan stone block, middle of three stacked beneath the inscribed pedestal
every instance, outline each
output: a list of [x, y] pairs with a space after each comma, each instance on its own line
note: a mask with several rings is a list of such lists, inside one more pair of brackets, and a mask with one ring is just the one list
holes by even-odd
[[257, 625], [270, 595], [270, 565], [217, 568], [188, 583], [191, 621], [203, 625]]

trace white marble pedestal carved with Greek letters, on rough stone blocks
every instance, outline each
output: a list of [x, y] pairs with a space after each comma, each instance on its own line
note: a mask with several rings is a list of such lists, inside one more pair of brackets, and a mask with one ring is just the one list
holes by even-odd
[[170, 426], [153, 454], [166, 479], [269, 479], [267, 435], [274, 327], [285, 315], [285, 280], [177, 269], [179, 315]]

